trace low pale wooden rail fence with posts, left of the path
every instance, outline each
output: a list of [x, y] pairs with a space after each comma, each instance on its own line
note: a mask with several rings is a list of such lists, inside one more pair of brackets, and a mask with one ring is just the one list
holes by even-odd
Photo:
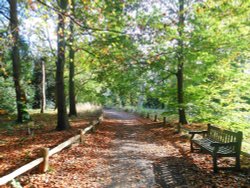
[[39, 171], [40, 172], [45, 172], [48, 170], [48, 163], [49, 163], [49, 157], [60, 152], [61, 150], [63, 150], [64, 148], [72, 145], [73, 143], [77, 142], [78, 140], [82, 142], [83, 139], [83, 135], [88, 133], [89, 131], [95, 131], [96, 126], [98, 124], [100, 124], [100, 122], [102, 121], [103, 117], [101, 116], [100, 118], [98, 118], [98, 120], [95, 120], [93, 122], [90, 123], [90, 126], [86, 127], [85, 129], [81, 130], [81, 133], [79, 135], [76, 135], [74, 137], [71, 137], [70, 139], [66, 140], [65, 142], [59, 144], [58, 146], [56, 146], [55, 148], [49, 150], [48, 148], [43, 148], [43, 157], [38, 158], [36, 160], [33, 160], [31, 162], [29, 162], [28, 164], [18, 168], [17, 170], [15, 170], [14, 172], [11, 172], [8, 175], [5, 175], [3, 177], [0, 178], [0, 186], [4, 185], [6, 183], [8, 183], [9, 181], [13, 180], [14, 178], [16, 178], [17, 176], [20, 176], [21, 174], [31, 170], [32, 168], [39, 166]]

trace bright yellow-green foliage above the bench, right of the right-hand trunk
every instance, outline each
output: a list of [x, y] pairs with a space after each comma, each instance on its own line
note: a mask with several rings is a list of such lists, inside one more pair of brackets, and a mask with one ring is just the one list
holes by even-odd
[[[195, 9], [192, 48], [187, 56], [191, 64], [186, 66], [186, 105], [191, 121], [245, 130], [250, 107], [246, 42], [250, 28], [245, 25], [249, 10], [245, 1], [237, 8], [235, 3], [209, 1]], [[249, 137], [247, 131], [244, 135]]]

